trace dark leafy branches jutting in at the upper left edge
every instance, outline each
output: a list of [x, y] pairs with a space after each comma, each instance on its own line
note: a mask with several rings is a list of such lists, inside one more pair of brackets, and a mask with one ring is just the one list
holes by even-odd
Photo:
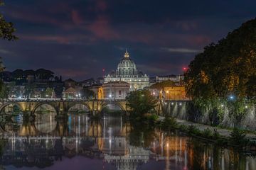
[[[0, 1], [0, 6], [3, 6], [4, 2]], [[18, 38], [14, 35], [15, 28], [14, 24], [11, 22], [7, 22], [4, 19], [4, 16], [0, 14], [0, 38], [6, 40], [17, 40]]]

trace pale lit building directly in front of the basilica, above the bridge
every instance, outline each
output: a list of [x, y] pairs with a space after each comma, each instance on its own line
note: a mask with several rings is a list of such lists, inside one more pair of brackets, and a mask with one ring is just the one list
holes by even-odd
[[102, 84], [103, 99], [125, 99], [129, 89], [129, 83], [124, 81], [112, 81]]

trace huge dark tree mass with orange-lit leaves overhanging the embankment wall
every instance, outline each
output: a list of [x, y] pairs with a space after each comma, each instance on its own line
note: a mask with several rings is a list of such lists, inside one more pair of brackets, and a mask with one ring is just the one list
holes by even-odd
[[208, 111], [209, 119], [220, 123], [228, 110], [230, 119], [239, 125], [249, 108], [255, 107], [255, 35], [256, 19], [253, 19], [218, 43], [206, 46], [189, 64], [186, 92], [198, 113]]

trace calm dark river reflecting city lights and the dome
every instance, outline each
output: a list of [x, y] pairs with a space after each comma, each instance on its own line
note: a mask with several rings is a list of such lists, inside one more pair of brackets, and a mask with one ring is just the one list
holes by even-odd
[[255, 170], [256, 159], [150, 123], [122, 117], [52, 113], [23, 122], [17, 115], [1, 122], [0, 169], [239, 169]]

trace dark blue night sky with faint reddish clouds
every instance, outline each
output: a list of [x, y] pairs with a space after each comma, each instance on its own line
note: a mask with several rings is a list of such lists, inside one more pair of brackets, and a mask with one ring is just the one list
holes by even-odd
[[256, 1], [6, 0], [20, 40], [0, 40], [9, 71], [50, 69], [76, 80], [117, 68], [127, 47], [153, 77], [181, 74], [196, 53], [255, 18]]

